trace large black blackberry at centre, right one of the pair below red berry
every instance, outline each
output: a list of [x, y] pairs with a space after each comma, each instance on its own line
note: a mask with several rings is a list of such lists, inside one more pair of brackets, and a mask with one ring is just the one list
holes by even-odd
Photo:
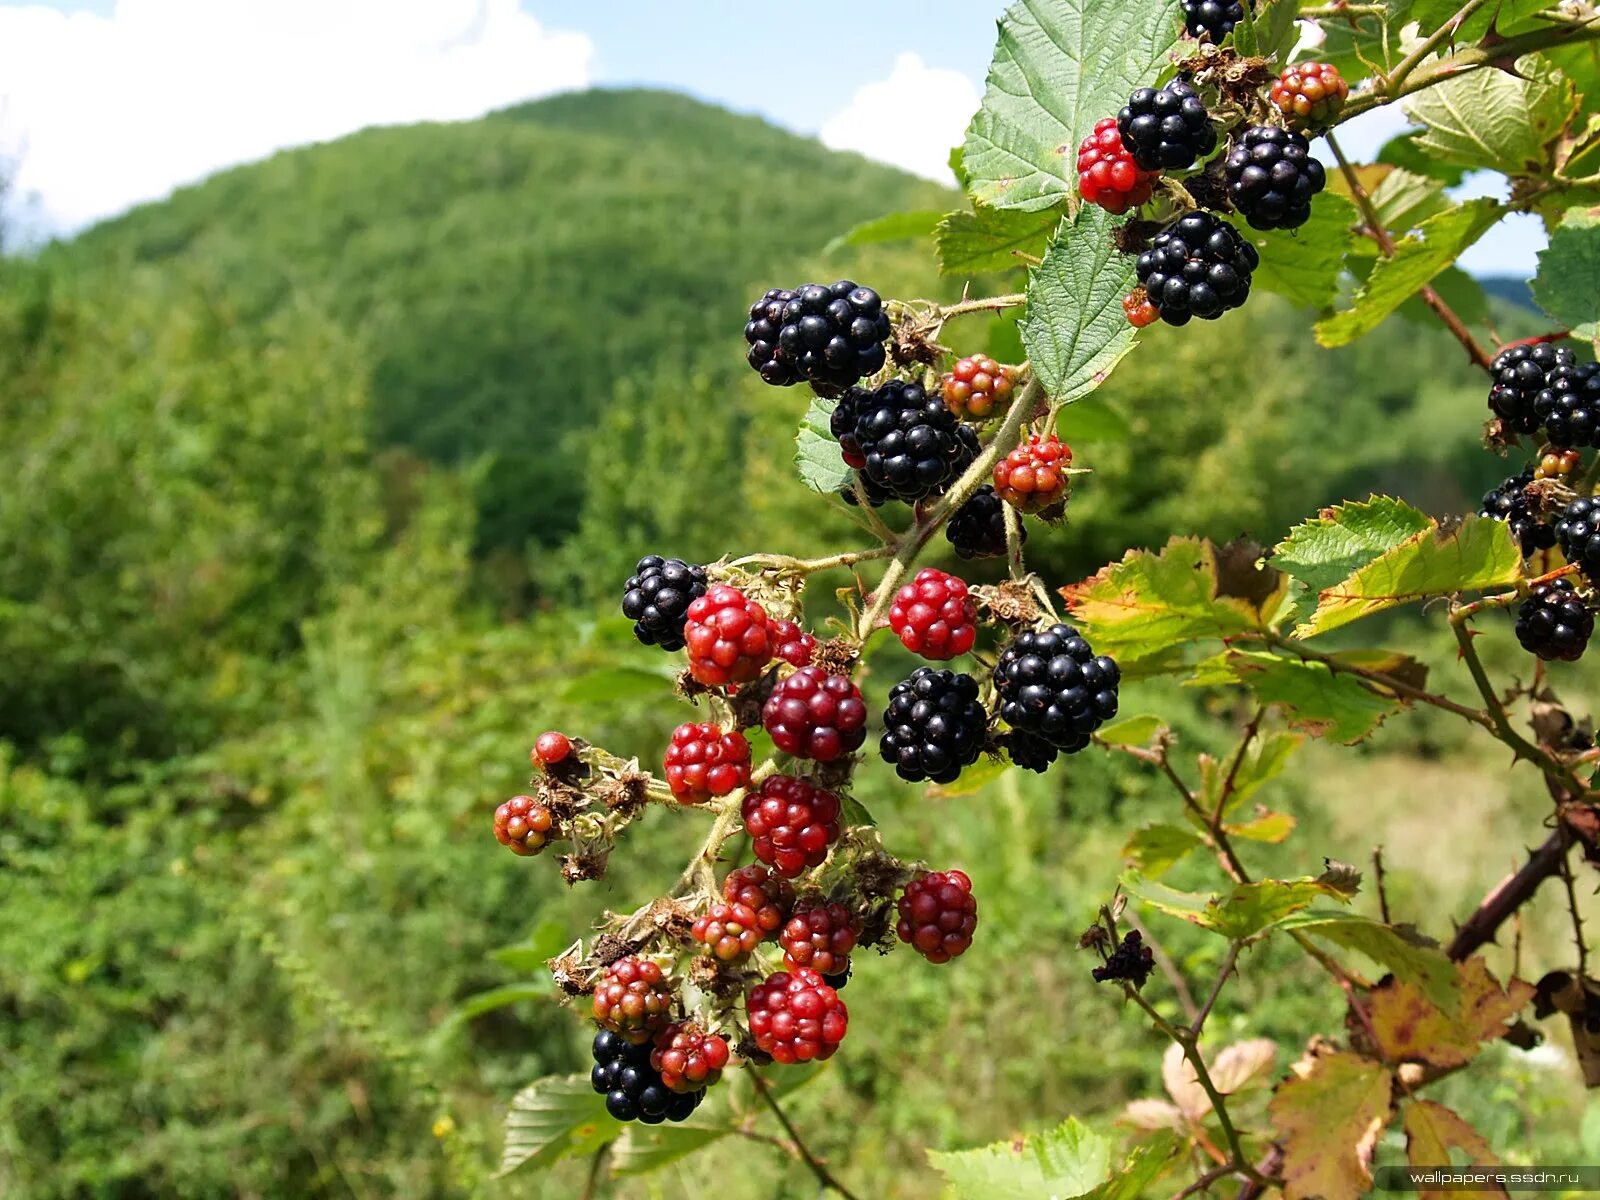
[[1006, 725], [1067, 754], [1090, 744], [1090, 734], [1117, 715], [1122, 672], [1072, 626], [1019, 634], [995, 664], [995, 691]]

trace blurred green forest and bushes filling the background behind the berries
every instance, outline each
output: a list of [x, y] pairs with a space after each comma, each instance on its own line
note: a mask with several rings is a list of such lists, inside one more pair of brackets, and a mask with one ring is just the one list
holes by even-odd
[[[0, 259], [0, 1192], [478, 1190], [506, 1096], [582, 1059], [539, 965], [613, 890], [650, 894], [693, 835], [658, 814], [614, 878], [568, 891], [501, 851], [488, 813], [579, 707], [574, 733], [659, 757], [662, 667], [616, 611], [635, 558], [805, 554], [850, 528], [771, 451], [805, 398], [746, 370], [744, 307], [813, 277], [1005, 288], [934, 278], [909, 245], [830, 246], [954, 205], [749, 117], [589, 91], [278, 154]], [[1448, 286], [1475, 323], [1531, 330], [1517, 286]], [[1066, 418], [1093, 474], [1030, 544], [1035, 570], [1067, 582], [1176, 530], [1270, 536], [1365, 491], [1475, 509], [1504, 475], [1459, 419], [1482, 387], [1416, 317], [1323, 350], [1262, 296], [1130, 360]], [[965, 349], [1016, 358], [1016, 328]], [[1450, 677], [1443, 645], [1397, 637]], [[1208, 746], [1208, 696], [1170, 693], [1166, 720]], [[1408, 718], [1336, 779], [1307, 752], [1278, 806], [1334, 853], [1360, 789], [1381, 837], [1421, 845], [1430, 805], [1498, 797], [1470, 757], [1440, 762], [1459, 739]], [[965, 973], [854, 984], [893, 992], [893, 1019], [795, 1101], [835, 1115], [819, 1138], [870, 1194], [920, 1195], [909, 1130], [971, 1144], [1158, 1091], [1138, 1029], [1077, 1014], [1080, 968], [1035, 957], [1024, 976], [1016, 955], [1069, 944], [1094, 902], [1075, 875], [1154, 784], [1090, 755], [942, 800], [883, 774], [885, 821], [1011, 880]], [[1502, 835], [1485, 819], [1392, 894], [1467, 894]], [[506, 987], [522, 1000], [474, 1002]], [[979, 1011], [1002, 1050], [974, 1074], [941, 1030]], [[1552, 1160], [1600, 1154], [1538, 1072], [1507, 1064], [1496, 1096], [1458, 1104], [1488, 1134], [1536, 1128]], [[808, 1194], [763, 1170], [725, 1194]]]

